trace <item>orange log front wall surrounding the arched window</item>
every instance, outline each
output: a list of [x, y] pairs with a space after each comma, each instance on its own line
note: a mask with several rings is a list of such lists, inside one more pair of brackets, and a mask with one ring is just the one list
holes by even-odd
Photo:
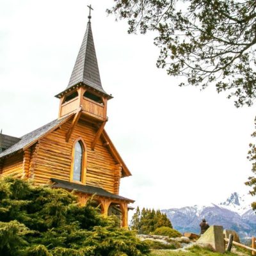
[[[118, 194], [121, 168], [111, 156], [108, 148], [99, 139], [95, 150], [91, 144], [97, 129], [92, 124], [79, 121], [70, 136], [68, 143], [65, 136], [72, 120], [61, 125], [38, 141], [34, 154], [35, 164], [33, 174], [36, 184], [47, 184], [50, 178], [70, 180], [70, 166], [73, 143], [77, 138], [83, 138], [87, 147], [86, 184], [100, 186], [111, 193]], [[31, 157], [32, 161], [33, 157]]]

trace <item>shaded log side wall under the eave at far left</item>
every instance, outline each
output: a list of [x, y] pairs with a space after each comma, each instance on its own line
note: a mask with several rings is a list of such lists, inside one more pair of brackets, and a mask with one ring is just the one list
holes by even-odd
[[23, 173], [23, 152], [3, 159], [1, 169], [1, 174], [3, 176], [12, 174], [15, 177], [21, 178]]

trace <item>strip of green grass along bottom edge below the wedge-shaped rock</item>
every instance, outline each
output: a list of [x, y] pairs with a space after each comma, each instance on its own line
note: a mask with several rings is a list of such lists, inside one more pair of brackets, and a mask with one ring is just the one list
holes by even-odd
[[[250, 252], [247, 250], [242, 250], [239, 249], [237, 250], [240, 253], [217, 253], [217, 252], [212, 252], [212, 250], [208, 248], [202, 248], [200, 246], [193, 246], [186, 250], [185, 252], [182, 251], [174, 251], [173, 250], [152, 250], [149, 254], [149, 256], [223, 256], [223, 255], [228, 255], [228, 256], [237, 256], [237, 255], [251, 255]], [[243, 253], [243, 254], [242, 254]]]

